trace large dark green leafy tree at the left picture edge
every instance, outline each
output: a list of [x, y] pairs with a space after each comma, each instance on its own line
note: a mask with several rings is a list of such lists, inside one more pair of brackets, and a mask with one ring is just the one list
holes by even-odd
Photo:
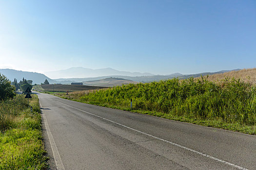
[[13, 98], [15, 95], [15, 86], [0, 73], [0, 101]]

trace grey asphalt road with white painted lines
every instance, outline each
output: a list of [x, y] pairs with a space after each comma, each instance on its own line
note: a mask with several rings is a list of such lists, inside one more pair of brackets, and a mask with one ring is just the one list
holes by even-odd
[[256, 170], [256, 136], [37, 94], [51, 169]]

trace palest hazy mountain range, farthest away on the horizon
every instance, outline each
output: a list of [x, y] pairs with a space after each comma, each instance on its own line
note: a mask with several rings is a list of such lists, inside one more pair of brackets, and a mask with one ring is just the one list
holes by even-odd
[[45, 72], [45, 75], [51, 78], [85, 78], [85, 77], [100, 77], [100, 76], [152, 76], [151, 73], [140, 73], [140, 72], [129, 72], [129, 71], [118, 71], [113, 68], [101, 68], [101, 69], [91, 69], [91, 68], [68, 68], [58, 71]]

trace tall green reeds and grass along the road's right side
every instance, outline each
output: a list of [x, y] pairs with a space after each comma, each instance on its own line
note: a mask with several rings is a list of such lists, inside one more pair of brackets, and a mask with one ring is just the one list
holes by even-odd
[[[59, 97], [256, 135], [256, 88], [239, 79], [178, 79]], [[130, 100], [133, 99], [133, 110]]]

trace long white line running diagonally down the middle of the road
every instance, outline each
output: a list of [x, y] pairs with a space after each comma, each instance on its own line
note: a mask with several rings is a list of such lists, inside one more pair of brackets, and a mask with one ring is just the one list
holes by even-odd
[[[57, 102], [59, 102], [59, 101], [57, 101]], [[65, 103], [63, 103], [63, 102], [60, 102], [60, 103], [65, 104]], [[73, 106], [68, 105], [68, 104], [65, 104], [65, 105], [70, 106], [70, 107], [73, 107]], [[78, 108], [76, 108], [76, 107], [73, 107], [73, 108], [78, 109]], [[210, 155], [207, 155], [207, 154], [204, 154], [204, 153], [200, 153], [200, 152], [195, 151], [195, 150], [193, 150], [193, 149], [189, 149], [189, 148], [187, 148], [187, 147], [185, 147], [185, 146], [181, 146], [181, 145], [179, 145], [179, 144], [176, 144], [176, 143], [170, 142], [170, 141], [168, 141], [168, 140], [165, 140], [165, 139], [159, 138], [159, 137], [157, 137], [157, 136], [153, 136], [153, 135], [147, 134], [147, 133], [145, 133], [145, 132], [141, 132], [141, 131], [139, 131], [139, 130], [136, 130], [136, 129], [130, 128], [130, 127], [128, 127], [128, 126], [122, 125], [122, 124], [117, 123], [117, 122], [115, 122], [115, 121], [112, 121], [112, 120], [109, 120], [109, 119], [106, 119], [106, 118], [102, 118], [102, 117], [100, 117], [100, 116], [98, 116], [98, 115], [94, 115], [94, 114], [92, 114], [92, 113], [89, 113], [89, 112], [83, 111], [83, 110], [81, 110], [81, 109], [78, 109], [78, 110], [80, 110], [80, 111], [82, 111], [82, 112], [85, 112], [85, 113], [88, 113], [88, 114], [90, 114], [90, 115], [96, 116], [96, 117], [98, 117], [98, 118], [101, 118], [101, 119], [104, 119], [104, 120], [110, 121], [110, 122], [112, 122], [112, 123], [118, 124], [118, 125], [120, 125], [120, 126], [123, 126], [123, 127], [125, 127], [125, 128], [131, 129], [131, 130], [133, 130], [133, 131], [139, 132], [139, 133], [141, 133], [141, 134], [144, 134], [144, 135], [147, 135], [147, 136], [154, 137], [154, 138], [156, 138], [156, 139], [158, 139], [158, 140], [161, 140], [161, 141], [164, 141], [164, 142], [170, 143], [170, 144], [172, 144], [172, 145], [175, 145], [175, 146], [177, 146], [177, 147], [180, 147], [180, 148], [183, 148], [183, 149], [185, 149], [185, 150], [191, 151], [191, 152], [193, 152], [193, 153], [197, 153], [197, 154], [200, 154], [200, 155], [202, 155], [202, 156], [208, 157], [208, 158], [210, 158], [210, 159], [216, 160], [216, 161], [218, 161], [218, 162], [221, 162], [221, 163], [227, 164], [227, 165], [229, 165], [229, 166], [231, 166], [231, 167], [234, 167], [234, 168], [237, 168], [237, 169], [239, 169], [239, 170], [248, 170], [248, 169], [246, 169], [246, 168], [243, 168], [243, 167], [237, 166], [237, 165], [235, 165], [235, 164], [232, 164], [232, 163], [229, 163], [229, 162], [227, 162], [227, 161], [224, 161], [224, 160], [218, 159], [218, 158], [216, 158], [216, 157], [213, 157], [213, 156], [210, 156]]]

